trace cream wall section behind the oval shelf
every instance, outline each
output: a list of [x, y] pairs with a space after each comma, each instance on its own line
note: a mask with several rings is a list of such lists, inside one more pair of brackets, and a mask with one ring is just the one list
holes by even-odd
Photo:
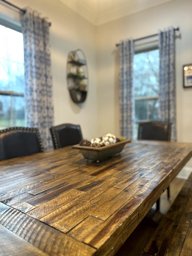
[[[53, 77], [55, 125], [70, 122], [80, 124], [87, 139], [97, 136], [97, 79], [95, 26], [60, 1], [15, 0], [20, 8], [29, 6], [48, 17], [51, 22], [50, 44]], [[66, 81], [67, 55], [81, 48], [87, 58], [89, 72], [88, 96], [84, 103], [75, 104], [69, 95]]]

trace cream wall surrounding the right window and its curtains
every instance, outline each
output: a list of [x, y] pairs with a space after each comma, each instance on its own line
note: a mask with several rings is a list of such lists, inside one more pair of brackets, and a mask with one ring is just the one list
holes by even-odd
[[[98, 134], [119, 135], [119, 52], [116, 43], [180, 28], [176, 39], [178, 141], [192, 143], [192, 88], [183, 88], [182, 65], [192, 63], [192, 1], [174, 0], [97, 27]], [[192, 166], [192, 161], [188, 163]]]

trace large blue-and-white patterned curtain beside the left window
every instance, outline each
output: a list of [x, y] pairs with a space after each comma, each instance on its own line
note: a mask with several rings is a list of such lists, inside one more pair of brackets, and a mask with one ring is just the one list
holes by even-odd
[[22, 14], [24, 41], [26, 125], [38, 127], [44, 151], [53, 148], [49, 127], [53, 125], [52, 75], [49, 23], [36, 11]]

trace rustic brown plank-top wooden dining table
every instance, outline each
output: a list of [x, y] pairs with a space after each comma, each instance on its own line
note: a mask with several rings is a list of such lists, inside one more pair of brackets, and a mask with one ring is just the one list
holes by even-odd
[[0, 255], [114, 255], [192, 157], [135, 140], [86, 161], [67, 146], [0, 162]]

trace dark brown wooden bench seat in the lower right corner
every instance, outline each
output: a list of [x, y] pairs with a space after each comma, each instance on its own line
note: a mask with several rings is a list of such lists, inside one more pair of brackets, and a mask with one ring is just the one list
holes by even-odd
[[142, 256], [192, 255], [192, 173], [160, 222]]

